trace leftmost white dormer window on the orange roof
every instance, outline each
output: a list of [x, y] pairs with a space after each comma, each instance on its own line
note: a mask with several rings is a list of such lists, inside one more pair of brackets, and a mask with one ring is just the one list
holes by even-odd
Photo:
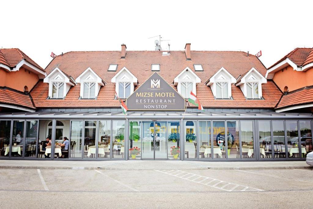
[[65, 74], [59, 68], [55, 68], [44, 78], [44, 83], [49, 83], [49, 97], [51, 99], [63, 99], [71, 86], [75, 86], [74, 79]]

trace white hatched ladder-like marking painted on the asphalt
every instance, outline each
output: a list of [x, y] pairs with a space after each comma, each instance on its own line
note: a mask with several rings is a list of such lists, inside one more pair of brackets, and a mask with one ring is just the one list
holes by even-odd
[[[222, 180], [218, 180], [218, 179], [213, 179], [213, 178], [210, 178], [210, 177], [207, 177], [207, 176], [197, 175], [197, 174], [193, 174], [193, 173], [189, 173], [189, 172], [185, 172], [185, 171], [181, 171], [181, 170], [175, 170], [175, 172], [173, 172], [173, 173], [163, 172], [162, 170], [155, 170], [155, 171], [163, 173], [163, 174], [171, 175], [171, 176], [174, 176], [174, 177], [177, 177], [177, 178], [181, 178], [181, 179], [184, 179], [184, 180], [192, 181], [192, 182], [195, 182], [195, 183], [198, 183], [198, 184], [202, 184], [202, 185], [205, 185], [205, 186], [210, 186], [210, 187], [213, 187], [213, 188], [216, 188], [216, 189], [221, 189], [221, 190], [224, 190], [224, 191], [234, 191], [234, 189], [237, 188], [237, 187], [239, 187], [239, 190], [235, 190], [235, 191], [246, 191], [247, 189], [249, 189], [249, 191], [263, 191], [263, 190], [260, 190], [260, 189], [256, 189], [256, 188], [252, 188], [252, 187], [248, 187], [248, 186], [244, 186], [244, 185], [239, 185], [239, 184], [234, 184], [234, 183], [230, 183], [230, 182], [226, 182], [226, 181], [222, 181]], [[177, 174], [173, 175], [174, 173], [176, 173], [178, 171], [181, 172], [180, 174], [182, 174], [182, 173], [186, 173], [186, 174], [182, 175], [182, 176], [177, 176]], [[191, 176], [189, 176], [188, 178], [183, 178], [184, 176], [187, 176], [187, 175], [191, 175]], [[192, 177], [195, 177], [195, 176], [196, 176], [196, 178], [192, 178]], [[203, 177], [204, 179], [201, 180], [201, 181], [196, 181], [196, 179], [198, 179], [200, 177]], [[210, 180], [210, 181], [205, 183], [205, 180]], [[214, 182], [213, 183], [214, 185], [209, 185], [213, 181], [217, 181], [217, 182]], [[222, 184], [221, 187], [218, 187], [218, 185], [221, 184], [221, 183], [225, 183], [225, 185]], [[228, 186], [231, 186], [232, 189], [226, 189]], [[240, 188], [242, 188], [242, 189], [240, 189]]]

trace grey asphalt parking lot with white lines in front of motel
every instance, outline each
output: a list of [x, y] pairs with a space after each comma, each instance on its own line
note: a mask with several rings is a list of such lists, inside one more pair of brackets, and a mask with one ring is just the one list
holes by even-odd
[[311, 169], [1, 169], [1, 208], [310, 208]]

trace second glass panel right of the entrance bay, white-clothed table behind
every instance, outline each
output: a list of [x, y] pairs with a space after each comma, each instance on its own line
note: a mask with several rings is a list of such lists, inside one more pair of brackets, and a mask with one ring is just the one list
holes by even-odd
[[199, 158], [212, 158], [211, 155], [211, 121], [199, 121]]

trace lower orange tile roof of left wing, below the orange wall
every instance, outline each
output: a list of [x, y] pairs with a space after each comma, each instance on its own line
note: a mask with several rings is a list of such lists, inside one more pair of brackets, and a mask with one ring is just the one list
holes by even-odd
[[29, 95], [5, 87], [0, 88], [0, 103], [35, 109]]

